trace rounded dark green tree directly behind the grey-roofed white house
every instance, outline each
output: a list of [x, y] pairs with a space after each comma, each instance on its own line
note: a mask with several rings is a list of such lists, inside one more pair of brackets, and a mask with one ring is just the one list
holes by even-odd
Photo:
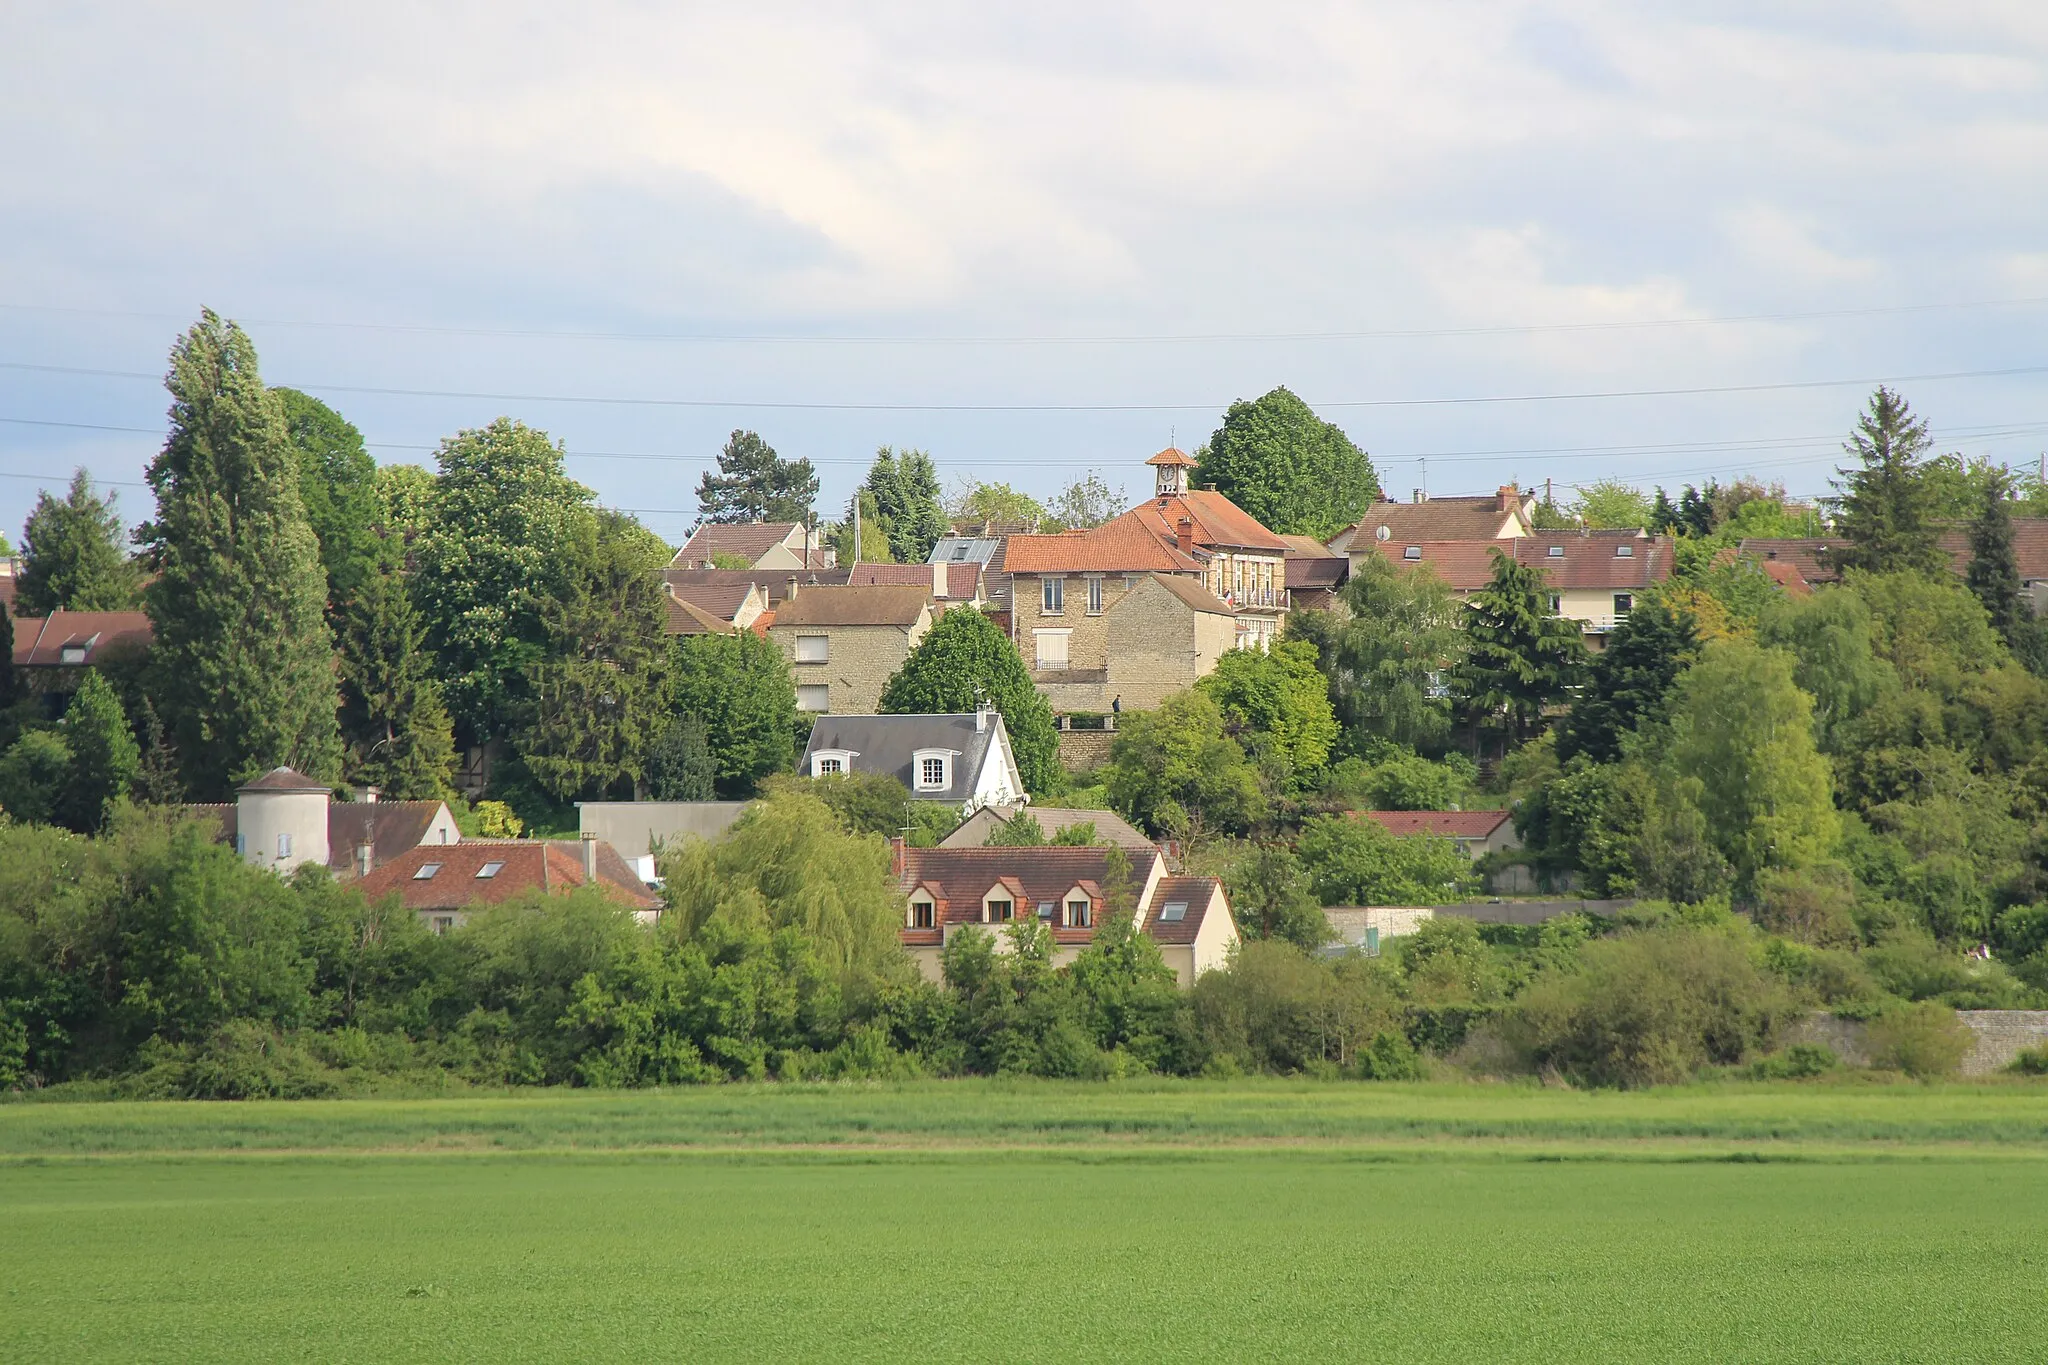
[[1032, 794], [1057, 792], [1059, 731], [1024, 657], [995, 622], [973, 608], [940, 616], [883, 688], [885, 716], [965, 714], [993, 706], [1010, 731], [1010, 751]]

